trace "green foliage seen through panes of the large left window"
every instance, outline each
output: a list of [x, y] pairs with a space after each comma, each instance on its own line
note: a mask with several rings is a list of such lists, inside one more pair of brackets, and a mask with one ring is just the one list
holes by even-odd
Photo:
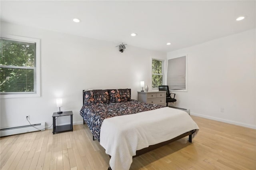
[[0, 92], [34, 92], [36, 43], [0, 41]]

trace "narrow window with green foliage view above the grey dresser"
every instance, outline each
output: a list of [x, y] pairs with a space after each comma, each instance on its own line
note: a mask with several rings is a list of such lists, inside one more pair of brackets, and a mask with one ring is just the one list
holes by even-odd
[[152, 89], [158, 89], [163, 84], [163, 61], [152, 59]]

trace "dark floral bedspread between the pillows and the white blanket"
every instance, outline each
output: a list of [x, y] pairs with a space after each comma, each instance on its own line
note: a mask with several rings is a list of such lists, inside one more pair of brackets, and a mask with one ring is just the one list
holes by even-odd
[[82, 107], [80, 115], [84, 118], [93, 136], [100, 141], [100, 127], [104, 119], [150, 111], [162, 107], [164, 106], [152, 105], [136, 100], [117, 103], [91, 103]]

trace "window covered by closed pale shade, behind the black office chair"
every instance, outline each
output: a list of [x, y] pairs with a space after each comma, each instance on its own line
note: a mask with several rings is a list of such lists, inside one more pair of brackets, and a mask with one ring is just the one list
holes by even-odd
[[167, 85], [170, 90], [187, 91], [186, 56], [168, 59]]

